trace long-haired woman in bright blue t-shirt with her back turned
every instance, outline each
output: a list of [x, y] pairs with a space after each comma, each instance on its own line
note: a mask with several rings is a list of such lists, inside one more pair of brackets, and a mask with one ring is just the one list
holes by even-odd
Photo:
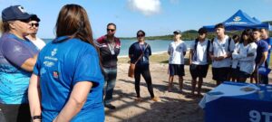
[[64, 5], [56, 39], [39, 53], [29, 85], [33, 120], [104, 121], [103, 76], [86, 11]]

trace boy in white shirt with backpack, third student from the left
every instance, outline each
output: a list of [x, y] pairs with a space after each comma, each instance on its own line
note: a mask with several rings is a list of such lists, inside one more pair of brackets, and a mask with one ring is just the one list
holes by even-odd
[[209, 47], [209, 56], [212, 60], [212, 79], [217, 81], [217, 85], [228, 80], [228, 72], [231, 64], [231, 53], [235, 43], [225, 34], [225, 26], [218, 23], [215, 26], [217, 37], [212, 39]]

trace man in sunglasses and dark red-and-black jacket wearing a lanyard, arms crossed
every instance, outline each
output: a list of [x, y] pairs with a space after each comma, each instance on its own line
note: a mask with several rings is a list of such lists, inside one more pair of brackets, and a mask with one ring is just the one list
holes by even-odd
[[119, 38], [114, 36], [116, 32], [115, 23], [108, 23], [107, 34], [97, 39], [97, 46], [100, 49], [101, 61], [105, 79], [104, 87], [104, 106], [106, 108], [115, 109], [111, 104], [112, 93], [115, 87], [117, 77], [117, 56], [120, 52], [121, 42]]

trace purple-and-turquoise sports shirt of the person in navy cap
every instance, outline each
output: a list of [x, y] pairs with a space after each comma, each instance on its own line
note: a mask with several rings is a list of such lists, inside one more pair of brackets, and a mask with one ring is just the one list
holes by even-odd
[[38, 53], [32, 42], [12, 33], [0, 39], [0, 103], [28, 103], [27, 88], [31, 72], [21, 68], [24, 61]]

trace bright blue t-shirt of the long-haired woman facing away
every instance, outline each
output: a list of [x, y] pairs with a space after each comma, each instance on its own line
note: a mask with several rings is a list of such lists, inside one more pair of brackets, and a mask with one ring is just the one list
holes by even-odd
[[82, 110], [72, 121], [103, 121], [103, 76], [95, 48], [79, 39], [59, 37], [39, 53], [34, 74], [40, 77], [43, 121], [53, 119], [63, 109], [80, 81], [92, 81], [93, 87]]

